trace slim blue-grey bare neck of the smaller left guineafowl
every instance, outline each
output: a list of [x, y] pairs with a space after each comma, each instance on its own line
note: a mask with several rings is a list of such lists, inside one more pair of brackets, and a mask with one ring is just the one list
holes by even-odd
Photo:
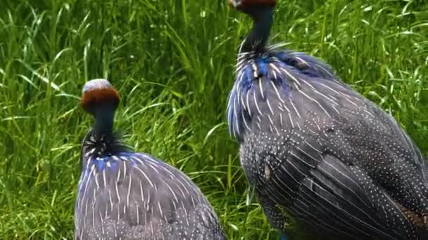
[[113, 131], [113, 119], [115, 109], [112, 106], [97, 107], [94, 112], [95, 124], [92, 133], [96, 138], [111, 135]]

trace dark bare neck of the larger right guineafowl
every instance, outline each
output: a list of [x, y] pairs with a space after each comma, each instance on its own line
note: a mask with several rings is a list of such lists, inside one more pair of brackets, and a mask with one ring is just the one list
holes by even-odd
[[253, 29], [246, 37], [241, 51], [264, 51], [272, 28], [273, 11], [274, 8], [270, 6], [254, 8], [248, 11], [248, 15], [253, 18]]

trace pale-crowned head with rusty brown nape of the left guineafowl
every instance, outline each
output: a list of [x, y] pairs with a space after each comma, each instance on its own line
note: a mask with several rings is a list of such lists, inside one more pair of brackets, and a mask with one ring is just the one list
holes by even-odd
[[93, 79], [84, 84], [82, 90], [82, 108], [94, 115], [96, 109], [111, 109], [118, 107], [119, 94], [106, 79]]

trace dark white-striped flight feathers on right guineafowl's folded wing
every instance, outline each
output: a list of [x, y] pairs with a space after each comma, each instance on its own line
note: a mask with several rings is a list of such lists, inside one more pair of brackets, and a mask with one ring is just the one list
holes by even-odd
[[343, 236], [405, 239], [409, 235], [405, 229], [412, 228], [410, 222], [393, 199], [367, 177], [357, 166], [325, 154], [302, 181], [291, 209], [306, 222]]

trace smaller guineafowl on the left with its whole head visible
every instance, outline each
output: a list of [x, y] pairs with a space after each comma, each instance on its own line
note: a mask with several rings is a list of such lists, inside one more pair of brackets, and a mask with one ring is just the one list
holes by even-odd
[[95, 123], [82, 142], [75, 239], [226, 239], [212, 206], [187, 175], [133, 152], [113, 132], [119, 101], [106, 79], [84, 84], [81, 106]]

